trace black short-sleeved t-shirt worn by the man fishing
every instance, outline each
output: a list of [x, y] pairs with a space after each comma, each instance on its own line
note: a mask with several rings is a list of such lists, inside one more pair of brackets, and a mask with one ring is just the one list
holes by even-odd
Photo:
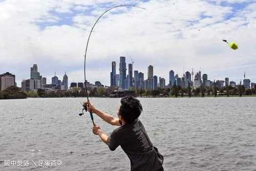
[[162, 167], [163, 156], [152, 145], [139, 119], [114, 130], [108, 145], [112, 151], [119, 145], [122, 147], [131, 161], [131, 171], [155, 171]]

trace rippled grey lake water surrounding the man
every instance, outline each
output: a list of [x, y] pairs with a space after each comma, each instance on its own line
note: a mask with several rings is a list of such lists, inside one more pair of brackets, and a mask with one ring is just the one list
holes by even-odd
[[[121, 147], [110, 151], [90, 115], [78, 116], [84, 100], [0, 100], [0, 170], [130, 170]], [[139, 100], [165, 170], [256, 170], [256, 97]], [[91, 102], [116, 116], [120, 99]], [[94, 120], [108, 135], [117, 127]]]

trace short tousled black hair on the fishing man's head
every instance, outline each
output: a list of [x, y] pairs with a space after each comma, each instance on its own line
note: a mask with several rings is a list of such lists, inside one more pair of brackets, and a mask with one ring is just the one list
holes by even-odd
[[120, 115], [125, 122], [132, 123], [142, 112], [140, 101], [133, 96], [126, 96], [121, 99]]

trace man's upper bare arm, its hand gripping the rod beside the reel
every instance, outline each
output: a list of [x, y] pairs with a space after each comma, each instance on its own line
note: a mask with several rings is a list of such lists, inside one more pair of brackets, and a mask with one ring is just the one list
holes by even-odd
[[89, 110], [91, 110], [93, 113], [95, 113], [96, 115], [98, 115], [101, 119], [103, 119], [104, 121], [112, 124], [112, 125], [117, 125], [117, 126], [121, 126], [121, 124], [119, 123], [119, 119], [115, 118], [109, 114], [106, 114], [98, 109], [95, 108], [95, 106], [93, 104], [90, 103], [90, 101], [88, 101], [88, 105], [89, 105]]

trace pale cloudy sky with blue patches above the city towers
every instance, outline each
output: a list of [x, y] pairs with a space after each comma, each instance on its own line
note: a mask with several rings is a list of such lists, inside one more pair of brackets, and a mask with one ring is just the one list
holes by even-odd
[[[83, 55], [97, 17], [87, 53], [87, 78], [110, 84], [111, 62], [126, 56], [134, 70], [169, 81], [174, 70], [201, 70], [208, 79], [256, 82], [256, 0], [0, 0], [0, 73], [16, 75], [17, 86], [30, 78], [34, 63], [47, 82], [65, 71], [69, 82], [83, 81]], [[222, 39], [235, 41], [230, 49]], [[183, 70], [184, 68], [184, 70]]]

